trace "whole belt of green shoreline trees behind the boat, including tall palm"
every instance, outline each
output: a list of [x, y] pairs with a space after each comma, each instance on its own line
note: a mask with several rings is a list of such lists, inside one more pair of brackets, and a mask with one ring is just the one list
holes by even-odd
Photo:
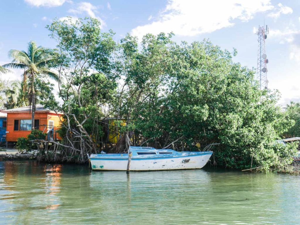
[[[295, 145], [275, 140], [295, 126], [295, 118], [277, 106], [278, 92], [260, 90], [254, 71], [232, 60], [235, 49], [208, 40], [178, 44], [172, 33], [141, 41], [128, 34], [118, 43], [93, 18], [55, 19], [47, 29], [55, 49], [33, 46], [26, 53], [30, 61], [25, 52], [12, 51], [14, 61], [4, 65], [26, 68], [30, 93], [36, 88], [45, 107], [64, 113], [62, 141], [49, 141], [52, 148], [41, 151], [41, 160], [82, 163], [87, 154], [124, 152], [128, 145], [191, 151], [220, 143], [214, 164], [221, 167], [291, 162]], [[53, 85], [38, 82], [42, 74], [64, 80], [60, 102]], [[110, 129], [121, 135], [116, 145], [104, 140], [109, 117], [115, 120]]]

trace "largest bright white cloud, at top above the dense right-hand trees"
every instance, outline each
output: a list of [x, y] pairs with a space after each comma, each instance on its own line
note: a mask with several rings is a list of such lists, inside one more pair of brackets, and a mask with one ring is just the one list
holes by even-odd
[[169, 0], [166, 8], [152, 23], [138, 26], [131, 33], [141, 38], [146, 33], [173, 31], [177, 35], [195, 36], [247, 22], [255, 13], [274, 9], [270, 0]]

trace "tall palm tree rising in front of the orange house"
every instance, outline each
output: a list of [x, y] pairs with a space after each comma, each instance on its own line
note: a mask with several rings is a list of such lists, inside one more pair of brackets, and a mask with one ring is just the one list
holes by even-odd
[[2, 65], [4, 69], [24, 70], [22, 74], [23, 88], [24, 90], [27, 89], [26, 84], [29, 83], [28, 92], [31, 95], [29, 105], [32, 105], [32, 128], [35, 123], [35, 79], [39, 76], [47, 76], [60, 82], [59, 76], [47, 67], [47, 64], [52, 60], [51, 52], [51, 49], [37, 46], [34, 41], [30, 41], [27, 52], [15, 49], [10, 50], [8, 55], [13, 61]]

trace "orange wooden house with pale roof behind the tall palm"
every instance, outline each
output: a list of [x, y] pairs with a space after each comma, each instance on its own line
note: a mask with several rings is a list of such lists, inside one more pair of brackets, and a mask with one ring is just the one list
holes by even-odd
[[[31, 132], [31, 107], [1, 110], [7, 113], [6, 141], [16, 142], [20, 137], [26, 137]], [[35, 128], [47, 133], [47, 139], [60, 140], [56, 130], [61, 124], [62, 113], [56, 113], [44, 108], [42, 105], [35, 107]]]

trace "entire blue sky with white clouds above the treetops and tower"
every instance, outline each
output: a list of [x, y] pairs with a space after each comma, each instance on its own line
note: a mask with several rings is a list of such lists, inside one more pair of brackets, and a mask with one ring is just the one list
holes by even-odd
[[[11, 62], [10, 49], [26, 50], [31, 40], [54, 48], [45, 28], [52, 19], [97, 18], [119, 41], [127, 33], [171, 32], [173, 40], [191, 43], [209, 39], [222, 49], [237, 49], [233, 58], [256, 69], [259, 25], [268, 25], [266, 55], [268, 88], [281, 93], [278, 104], [300, 102], [300, 1], [291, 0], [1, 0], [0, 64]], [[2, 79], [21, 79], [21, 71]]]

